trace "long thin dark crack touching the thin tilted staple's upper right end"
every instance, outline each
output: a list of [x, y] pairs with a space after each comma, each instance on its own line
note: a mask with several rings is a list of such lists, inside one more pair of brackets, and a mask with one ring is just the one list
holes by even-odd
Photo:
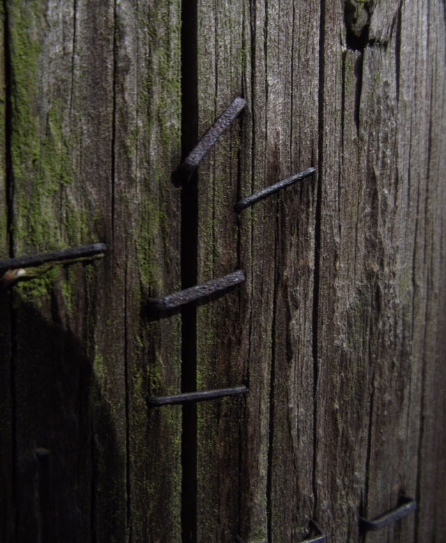
[[318, 308], [319, 283], [321, 267], [321, 208], [322, 208], [322, 177], [323, 177], [323, 130], [324, 130], [324, 79], [325, 79], [325, 0], [321, 0], [321, 15], [319, 23], [319, 82], [318, 82], [318, 180], [316, 187], [316, 211], [314, 225], [314, 292], [313, 292], [313, 518], [317, 519], [318, 492], [316, 480], [317, 467], [317, 409], [318, 409]]

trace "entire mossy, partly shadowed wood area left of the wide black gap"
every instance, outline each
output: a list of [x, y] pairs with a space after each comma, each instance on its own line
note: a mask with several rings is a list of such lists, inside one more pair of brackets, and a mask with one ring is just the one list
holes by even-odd
[[3, 254], [108, 250], [5, 302], [13, 461], [0, 539], [175, 541], [180, 412], [148, 412], [146, 395], [180, 389], [179, 318], [150, 323], [145, 305], [179, 286], [178, 3], [5, 9]]

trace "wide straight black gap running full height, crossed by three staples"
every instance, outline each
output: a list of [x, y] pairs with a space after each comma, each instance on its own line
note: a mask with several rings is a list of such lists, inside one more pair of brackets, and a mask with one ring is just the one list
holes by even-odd
[[[181, 6], [181, 151], [187, 156], [198, 138], [197, 87], [197, 0], [183, 0]], [[181, 283], [197, 284], [198, 192], [197, 173], [181, 188]], [[197, 308], [181, 311], [181, 389], [197, 388]], [[181, 443], [183, 543], [197, 542], [197, 406], [183, 406]]]

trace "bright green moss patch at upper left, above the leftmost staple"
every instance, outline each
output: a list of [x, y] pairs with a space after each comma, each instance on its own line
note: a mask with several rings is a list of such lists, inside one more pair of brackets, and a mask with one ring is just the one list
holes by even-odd
[[86, 230], [86, 217], [68, 211], [63, 201], [63, 188], [73, 179], [71, 142], [63, 131], [66, 104], [52, 98], [47, 110], [40, 105], [45, 25], [42, 3], [11, 4], [13, 235], [19, 251], [61, 246], [62, 225], [77, 243]]

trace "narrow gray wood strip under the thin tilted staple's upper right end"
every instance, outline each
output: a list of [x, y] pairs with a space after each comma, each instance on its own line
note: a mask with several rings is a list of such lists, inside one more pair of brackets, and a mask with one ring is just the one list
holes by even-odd
[[[268, 3], [268, 140], [277, 175], [318, 166], [319, 3]], [[304, 539], [313, 517], [314, 176], [275, 207], [268, 541]]]

